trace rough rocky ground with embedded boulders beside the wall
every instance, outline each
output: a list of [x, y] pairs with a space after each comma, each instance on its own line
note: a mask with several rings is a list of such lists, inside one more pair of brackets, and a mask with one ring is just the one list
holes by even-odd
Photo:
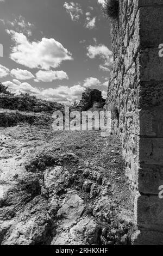
[[119, 140], [54, 132], [46, 120], [14, 125], [0, 127], [1, 245], [130, 244]]

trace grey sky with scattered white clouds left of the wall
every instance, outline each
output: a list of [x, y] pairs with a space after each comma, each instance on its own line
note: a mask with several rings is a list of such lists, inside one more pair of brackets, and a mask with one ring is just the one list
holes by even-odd
[[[0, 82], [61, 103], [106, 96], [112, 52], [103, 0], [0, 0]], [[1, 54], [2, 55], [2, 54]]]

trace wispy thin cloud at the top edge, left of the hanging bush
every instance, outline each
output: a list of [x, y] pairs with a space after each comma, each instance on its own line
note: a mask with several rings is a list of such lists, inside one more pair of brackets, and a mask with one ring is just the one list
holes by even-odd
[[80, 16], [83, 14], [83, 10], [78, 3], [70, 2], [64, 3], [64, 8], [66, 9], [67, 13], [70, 14], [72, 21], [78, 21]]

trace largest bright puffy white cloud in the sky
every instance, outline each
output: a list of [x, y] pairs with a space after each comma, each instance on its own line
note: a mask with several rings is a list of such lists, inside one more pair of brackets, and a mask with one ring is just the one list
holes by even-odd
[[22, 33], [15, 31], [7, 31], [7, 33], [15, 42], [10, 58], [18, 64], [31, 69], [49, 70], [51, 67], [57, 68], [64, 60], [72, 60], [71, 53], [53, 38], [30, 42]]

